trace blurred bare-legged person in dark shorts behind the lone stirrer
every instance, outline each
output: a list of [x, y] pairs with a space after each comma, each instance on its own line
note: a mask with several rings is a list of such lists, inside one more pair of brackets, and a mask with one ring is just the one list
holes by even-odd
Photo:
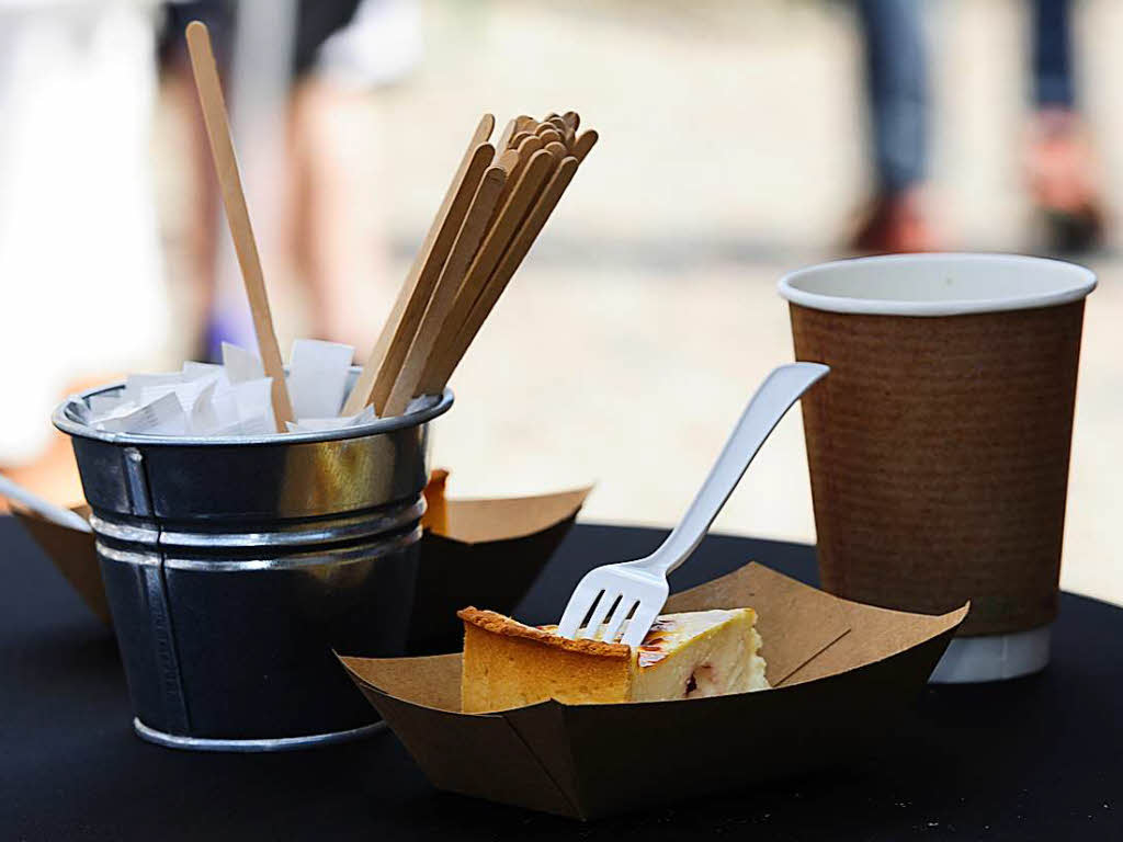
[[[356, 172], [378, 155], [372, 141], [380, 132], [369, 120], [362, 132], [347, 127], [356, 115], [369, 116], [364, 102], [369, 90], [398, 81], [417, 64], [416, 3], [194, 0], [170, 7], [168, 91], [193, 126], [199, 187], [190, 260], [207, 323], [198, 356], [216, 358], [222, 341], [253, 346], [254, 339], [232, 251], [217, 221], [217, 185], [183, 48], [183, 29], [194, 18], [208, 24], [222, 65], [267, 274], [276, 280], [289, 269], [301, 282], [305, 332], [362, 349], [372, 341], [376, 320], [356, 306], [355, 284], [386, 275], [387, 246], [380, 226], [369, 225], [378, 203], [369, 192], [356, 194], [363, 190]], [[364, 145], [348, 134], [359, 135]]]

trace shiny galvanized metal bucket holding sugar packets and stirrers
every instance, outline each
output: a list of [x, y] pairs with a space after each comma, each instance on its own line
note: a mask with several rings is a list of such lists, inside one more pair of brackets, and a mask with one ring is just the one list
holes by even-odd
[[451, 403], [446, 391], [359, 428], [227, 439], [108, 433], [55, 411], [140, 736], [273, 751], [376, 727], [332, 650], [404, 655], [428, 422]]

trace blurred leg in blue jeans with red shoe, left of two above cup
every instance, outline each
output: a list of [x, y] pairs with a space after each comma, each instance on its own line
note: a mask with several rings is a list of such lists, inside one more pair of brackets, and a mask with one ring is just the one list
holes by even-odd
[[928, 67], [921, 0], [858, 0], [876, 194], [852, 237], [861, 251], [932, 247], [920, 187], [928, 164]]

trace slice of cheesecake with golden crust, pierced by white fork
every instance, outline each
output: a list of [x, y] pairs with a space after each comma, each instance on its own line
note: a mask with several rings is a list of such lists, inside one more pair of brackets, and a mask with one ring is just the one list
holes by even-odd
[[524, 625], [464, 608], [465, 713], [504, 711], [555, 698], [565, 704], [654, 702], [768, 687], [752, 608], [660, 616], [632, 649], [568, 640], [557, 626]]

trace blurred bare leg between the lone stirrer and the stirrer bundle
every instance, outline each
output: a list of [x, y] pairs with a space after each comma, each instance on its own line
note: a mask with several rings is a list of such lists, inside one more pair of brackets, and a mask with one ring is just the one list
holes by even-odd
[[293, 244], [316, 336], [374, 345], [396, 294], [378, 201], [382, 125], [372, 92], [420, 56], [412, 0], [301, 6], [292, 110]]

